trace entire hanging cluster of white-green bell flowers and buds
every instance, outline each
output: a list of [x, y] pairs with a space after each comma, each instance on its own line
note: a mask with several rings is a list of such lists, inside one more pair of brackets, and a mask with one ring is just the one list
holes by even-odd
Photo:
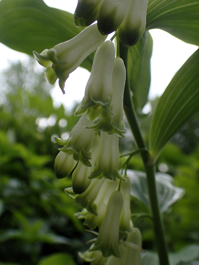
[[[126, 69], [115, 46], [106, 34], [118, 28], [125, 45], [135, 44], [146, 24], [147, 0], [79, 0], [74, 14], [77, 26], [89, 26], [76, 37], [55, 45], [41, 54], [33, 52], [46, 68], [46, 78], [53, 84], [65, 81], [81, 62], [97, 49], [85, 95], [75, 111], [80, 116], [68, 139], [55, 136], [62, 147], [55, 158], [57, 178], [71, 175], [72, 187], [65, 192], [82, 211], [89, 229], [98, 236], [80, 257], [91, 265], [141, 264], [141, 233], [131, 220], [131, 182], [119, 169], [119, 137], [125, 137], [123, 94]], [[135, 23], [136, 21], [136, 23]], [[99, 30], [98, 30], [99, 29]], [[102, 34], [101, 34], [102, 33]]]

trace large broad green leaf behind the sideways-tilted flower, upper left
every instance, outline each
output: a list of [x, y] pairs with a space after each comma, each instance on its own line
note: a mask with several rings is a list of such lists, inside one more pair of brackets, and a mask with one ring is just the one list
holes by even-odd
[[[42, 0], [0, 1], [0, 41], [14, 50], [40, 53], [80, 31], [72, 14], [49, 7]], [[81, 66], [91, 70], [93, 56], [89, 55]]]

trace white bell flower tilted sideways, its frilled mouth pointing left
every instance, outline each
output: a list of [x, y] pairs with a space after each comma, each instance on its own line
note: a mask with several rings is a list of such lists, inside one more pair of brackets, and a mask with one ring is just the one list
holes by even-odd
[[94, 50], [96, 50], [106, 39], [102, 36], [97, 25], [93, 24], [85, 28], [74, 38], [59, 43], [53, 48], [45, 49], [38, 54], [33, 51], [33, 55], [39, 64], [46, 68], [45, 77], [51, 85], [59, 78], [59, 86], [64, 92], [65, 82], [83, 60]]

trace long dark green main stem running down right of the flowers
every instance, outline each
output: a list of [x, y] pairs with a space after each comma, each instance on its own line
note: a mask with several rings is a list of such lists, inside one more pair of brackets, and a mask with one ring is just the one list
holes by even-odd
[[[127, 55], [128, 55], [128, 47], [125, 47], [120, 43], [120, 57], [123, 59], [124, 65], [126, 67], [126, 84], [124, 88], [124, 112], [126, 114], [129, 126], [135, 138], [137, 147], [139, 149], [146, 149], [146, 145], [142, 138], [142, 134], [138, 125], [137, 115], [135, 113], [133, 105], [132, 94], [128, 78]], [[154, 163], [148, 151], [141, 152], [140, 154], [144, 163], [146, 176], [147, 176], [150, 205], [153, 215], [154, 235], [159, 255], [159, 264], [169, 265], [167, 245], [165, 240], [165, 231], [164, 231], [162, 214], [160, 212], [159, 201], [157, 196]]]

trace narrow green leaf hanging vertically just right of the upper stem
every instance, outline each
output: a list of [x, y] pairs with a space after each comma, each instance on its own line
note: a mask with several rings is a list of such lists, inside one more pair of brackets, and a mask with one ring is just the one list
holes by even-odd
[[145, 31], [140, 41], [129, 49], [128, 74], [135, 108], [141, 113], [147, 102], [151, 81], [150, 58], [153, 49], [153, 39]]

